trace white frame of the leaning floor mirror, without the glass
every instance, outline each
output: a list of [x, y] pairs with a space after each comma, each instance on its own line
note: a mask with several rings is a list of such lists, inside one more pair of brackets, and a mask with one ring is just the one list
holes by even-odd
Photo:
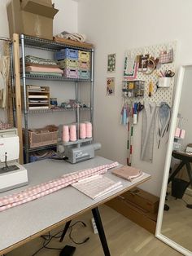
[[179, 68], [179, 73], [177, 77], [177, 86], [175, 91], [175, 98], [174, 98], [174, 104], [172, 108], [172, 122], [170, 126], [170, 133], [169, 133], [169, 139], [168, 139], [168, 150], [166, 154], [165, 159], [165, 165], [164, 165], [164, 178], [161, 188], [161, 194], [160, 194], [160, 201], [159, 201], [159, 211], [158, 211], [158, 218], [157, 218], [157, 225], [156, 225], [156, 231], [155, 236], [163, 241], [165, 244], [171, 246], [173, 249], [176, 249], [181, 254], [184, 254], [186, 256], [191, 256], [192, 252], [188, 249], [185, 249], [181, 245], [177, 244], [175, 241], [172, 241], [167, 236], [164, 236], [161, 233], [161, 227], [163, 222], [163, 215], [164, 215], [164, 204], [165, 204], [165, 196], [167, 192], [167, 186], [168, 186], [168, 176], [169, 176], [169, 167], [171, 164], [171, 158], [172, 158], [172, 145], [174, 141], [174, 135], [175, 135], [175, 129], [177, 125], [177, 113], [179, 110], [179, 104], [181, 99], [181, 90], [182, 90], [182, 84], [184, 80], [184, 74], [185, 74], [185, 68], [192, 67], [192, 64], [185, 64], [181, 65]]

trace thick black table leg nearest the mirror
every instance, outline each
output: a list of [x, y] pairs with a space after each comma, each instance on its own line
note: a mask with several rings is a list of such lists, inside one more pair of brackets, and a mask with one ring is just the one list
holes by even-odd
[[92, 214], [94, 215], [94, 221], [98, 228], [98, 235], [99, 235], [100, 241], [103, 246], [103, 252], [104, 252], [105, 256], [110, 256], [110, 251], [109, 251], [109, 248], [107, 245], [107, 239], [106, 239], [105, 232], [103, 229], [103, 223], [102, 223], [101, 216], [99, 214], [98, 207], [92, 209]]

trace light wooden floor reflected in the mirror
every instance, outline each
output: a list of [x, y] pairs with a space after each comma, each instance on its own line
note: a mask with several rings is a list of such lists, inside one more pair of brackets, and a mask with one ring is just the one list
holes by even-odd
[[177, 200], [168, 195], [166, 204], [170, 208], [164, 210], [162, 234], [192, 251], [192, 209], [187, 208], [186, 203], [192, 205], [192, 194], [185, 193]]

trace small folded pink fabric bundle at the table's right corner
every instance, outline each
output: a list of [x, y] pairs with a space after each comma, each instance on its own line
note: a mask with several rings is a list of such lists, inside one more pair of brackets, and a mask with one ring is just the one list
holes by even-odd
[[120, 178], [133, 181], [133, 179], [140, 178], [143, 175], [142, 170], [132, 166], [121, 166], [118, 169], [112, 170], [112, 174], [116, 174]]

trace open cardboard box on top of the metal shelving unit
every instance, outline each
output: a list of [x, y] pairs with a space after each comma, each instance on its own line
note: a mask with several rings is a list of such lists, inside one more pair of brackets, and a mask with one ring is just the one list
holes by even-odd
[[7, 5], [10, 37], [13, 33], [24, 33], [52, 40], [53, 19], [59, 10], [50, 3], [48, 0], [11, 0]]

